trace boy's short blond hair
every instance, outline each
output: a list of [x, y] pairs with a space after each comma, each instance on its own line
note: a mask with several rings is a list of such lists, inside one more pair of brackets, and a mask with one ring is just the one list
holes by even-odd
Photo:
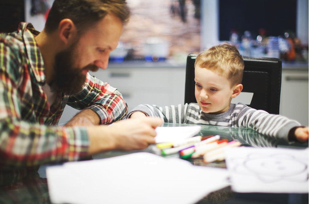
[[231, 87], [241, 84], [243, 80], [243, 56], [234, 45], [228, 43], [210, 47], [195, 60], [194, 67], [199, 66], [226, 76], [230, 80]]

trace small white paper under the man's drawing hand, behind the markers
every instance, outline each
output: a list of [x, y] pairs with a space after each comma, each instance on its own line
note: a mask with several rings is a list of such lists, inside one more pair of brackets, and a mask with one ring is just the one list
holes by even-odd
[[193, 137], [201, 131], [201, 126], [157, 127], [156, 143], [176, 142]]

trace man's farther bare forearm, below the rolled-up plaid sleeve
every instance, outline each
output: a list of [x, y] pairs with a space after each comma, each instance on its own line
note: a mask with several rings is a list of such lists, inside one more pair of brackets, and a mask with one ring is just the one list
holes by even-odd
[[85, 109], [76, 114], [64, 126], [93, 126], [100, 123], [99, 116], [91, 109]]

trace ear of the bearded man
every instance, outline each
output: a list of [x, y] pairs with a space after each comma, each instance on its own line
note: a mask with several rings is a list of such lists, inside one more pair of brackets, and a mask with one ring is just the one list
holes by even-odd
[[68, 44], [77, 36], [77, 29], [71, 19], [62, 19], [58, 26], [58, 35], [60, 40]]

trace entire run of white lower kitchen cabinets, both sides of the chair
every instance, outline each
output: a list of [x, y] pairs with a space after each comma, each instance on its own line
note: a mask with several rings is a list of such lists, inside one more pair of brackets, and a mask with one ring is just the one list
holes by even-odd
[[[184, 103], [185, 67], [108, 67], [91, 74], [117, 88], [129, 111], [139, 104]], [[308, 69], [282, 69], [280, 115], [308, 125], [308, 86]], [[59, 123], [77, 112], [66, 106]]]

